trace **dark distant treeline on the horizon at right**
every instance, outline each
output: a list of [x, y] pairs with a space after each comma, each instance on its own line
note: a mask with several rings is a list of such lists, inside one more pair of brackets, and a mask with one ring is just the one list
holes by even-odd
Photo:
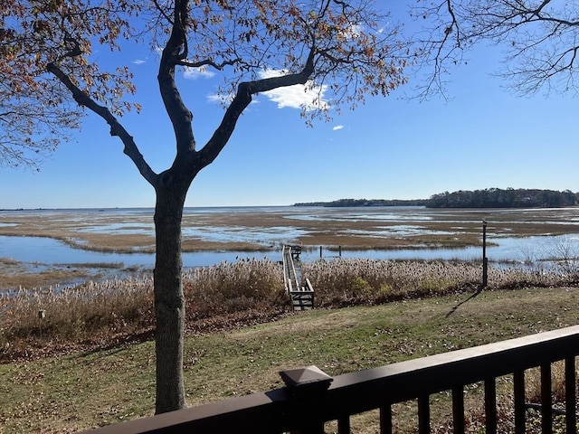
[[339, 199], [332, 202], [295, 203], [294, 206], [425, 206], [427, 208], [561, 208], [579, 205], [579, 193], [570, 190], [531, 190], [526, 188], [487, 188], [458, 192], [444, 192], [430, 199]]

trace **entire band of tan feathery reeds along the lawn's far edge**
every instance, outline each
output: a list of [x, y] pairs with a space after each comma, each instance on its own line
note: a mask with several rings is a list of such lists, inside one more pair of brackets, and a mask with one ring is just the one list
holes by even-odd
[[[302, 278], [309, 278], [316, 290], [316, 306], [325, 308], [474, 293], [480, 273], [478, 264], [458, 261], [320, 259], [302, 264]], [[576, 281], [557, 273], [489, 269], [489, 288], [567, 286]], [[280, 265], [269, 259], [187, 269], [184, 295], [189, 331], [269, 321], [289, 311]], [[75, 288], [19, 288], [0, 296], [0, 360], [67, 345], [146, 337], [154, 326], [152, 307], [149, 274]]]

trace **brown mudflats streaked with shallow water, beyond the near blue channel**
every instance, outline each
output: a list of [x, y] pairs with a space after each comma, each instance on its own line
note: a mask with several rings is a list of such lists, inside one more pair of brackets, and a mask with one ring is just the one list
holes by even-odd
[[[426, 208], [272, 207], [196, 211], [183, 217], [183, 250], [270, 250], [282, 243], [349, 250], [460, 248], [481, 243], [482, 221], [493, 236], [579, 232], [579, 207], [433, 210]], [[235, 210], [235, 209], [231, 209]], [[86, 250], [153, 252], [153, 213], [0, 212], [0, 235], [50, 237]], [[0, 250], [0, 256], [1, 250]]]

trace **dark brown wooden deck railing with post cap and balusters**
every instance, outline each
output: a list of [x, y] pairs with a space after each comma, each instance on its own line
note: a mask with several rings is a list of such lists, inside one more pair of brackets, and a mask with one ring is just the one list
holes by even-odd
[[[323, 433], [324, 423], [337, 420], [338, 432], [349, 432], [350, 416], [380, 410], [382, 433], [392, 432], [391, 405], [418, 399], [419, 432], [430, 432], [429, 396], [452, 392], [453, 427], [464, 432], [464, 386], [485, 384], [486, 432], [497, 432], [496, 379], [513, 374], [515, 430], [525, 432], [525, 370], [541, 369], [543, 433], [552, 432], [551, 363], [565, 361], [566, 432], [576, 434], [575, 357], [579, 355], [579, 325], [495, 344], [393, 363], [358, 373], [338, 375], [324, 389], [306, 376], [292, 389], [254, 393], [229, 401], [178, 410], [96, 429], [94, 434], [167, 432]], [[319, 371], [317, 369], [314, 372]], [[289, 372], [282, 377], [287, 377]], [[316, 373], [314, 373], [314, 376]], [[285, 380], [285, 379], [284, 379]], [[321, 383], [321, 382], [320, 382]], [[293, 384], [295, 386], [296, 384]], [[310, 387], [312, 386], [312, 387]], [[296, 392], [298, 391], [298, 392]]]

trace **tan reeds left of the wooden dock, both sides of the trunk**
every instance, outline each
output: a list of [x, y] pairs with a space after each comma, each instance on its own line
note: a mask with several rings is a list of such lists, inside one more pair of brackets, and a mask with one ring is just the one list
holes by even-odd
[[[203, 319], [208, 325], [223, 315], [246, 314], [259, 321], [284, 310], [281, 271], [269, 260], [190, 269], [184, 281], [189, 329], [199, 328], [197, 321]], [[15, 289], [0, 296], [0, 360], [47, 348], [147, 336], [154, 326], [152, 307], [153, 279], [147, 274], [75, 288]]]

